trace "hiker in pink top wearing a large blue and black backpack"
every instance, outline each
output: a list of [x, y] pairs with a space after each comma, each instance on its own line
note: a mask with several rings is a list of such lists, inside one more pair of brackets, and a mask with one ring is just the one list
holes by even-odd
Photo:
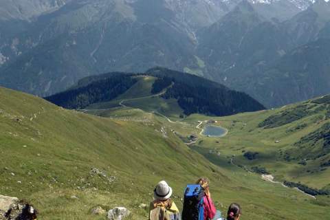
[[220, 219], [221, 212], [217, 212], [211, 199], [209, 183], [207, 178], [200, 178], [196, 184], [186, 187], [182, 220]]

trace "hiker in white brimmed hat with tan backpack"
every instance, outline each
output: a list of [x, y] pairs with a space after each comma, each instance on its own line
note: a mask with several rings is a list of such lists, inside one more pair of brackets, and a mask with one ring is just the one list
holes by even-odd
[[149, 220], [180, 220], [180, 212], [170, 199], [172, 188], [166, 181], [159, 181], [153, 190], [154, 200], [150, 204]]

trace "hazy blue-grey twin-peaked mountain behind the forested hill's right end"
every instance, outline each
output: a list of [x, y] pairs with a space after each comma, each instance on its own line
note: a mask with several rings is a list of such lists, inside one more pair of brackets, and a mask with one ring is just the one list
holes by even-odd
[[[327, 41], [317, 41], [330, 37], [329, 10], [329, 3], [319, 1], [281, 23], [261, 17], [247, 2], [240, 3], [201, 33], [204, 41], [198, 52], [206, 63], [205, 75], [245, 91], [267, 107], [329, 93], [327, 71], [322, 70], [327, 68], [324, 57], [327, 57]], [[309, 43], [311, 41], [317, 42]], [[325, 45], [321, 46], [322, 43]], [[325, 54], [311, 52], [311, 48], [315, 48], [311, 45], [323, 47], [321, 51]], [[314, 69], [303, 70], [307, 65]], [[279, 68], [283, 66], [300, 70], [293, 74]]]

